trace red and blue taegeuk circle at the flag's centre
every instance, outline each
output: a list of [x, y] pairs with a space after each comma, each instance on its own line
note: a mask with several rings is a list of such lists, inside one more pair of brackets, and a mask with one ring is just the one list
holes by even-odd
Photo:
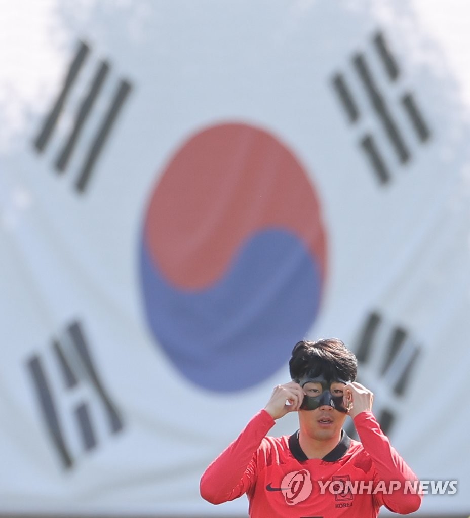
[[140, 261], [147, 322], [174, 366], [205, 389], [246, 389], [287, 362], [319, 311], [319, 200], [279, 139], [210, 126], [151, 193]]

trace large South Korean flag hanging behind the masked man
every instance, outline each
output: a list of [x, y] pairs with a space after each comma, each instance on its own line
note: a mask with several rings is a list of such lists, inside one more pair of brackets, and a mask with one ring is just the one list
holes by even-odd
[[246, 514], [199, 477], [326, 336], [469, 512], [466, 7], [2, 0], [1, 513]]

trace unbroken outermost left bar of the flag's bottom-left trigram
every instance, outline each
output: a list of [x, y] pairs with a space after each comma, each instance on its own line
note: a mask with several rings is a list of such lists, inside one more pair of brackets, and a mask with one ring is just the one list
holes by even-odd
[[65, 444], [62, 427], [57, 413], [57, 407], [52, 397], [52, 392], [44, 374], [44, 369], [39, 356], [34, 355], [28, 362], [27, 366], [35, 385], [39, 405], [45, 418], [49, 436], [59, 453], [62, 464], [64, 467], [70, 468], [73, 465], [73, 459]]

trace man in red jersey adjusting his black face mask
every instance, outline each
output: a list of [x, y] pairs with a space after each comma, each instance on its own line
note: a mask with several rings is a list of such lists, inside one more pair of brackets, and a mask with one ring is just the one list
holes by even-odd
[[[421, 505], [417, 478], [371, 412], [374, 395], [355, 382], [357, 360], [336, 338], [296, 344], [292, 381], [204, 472], [201, 496], [222, 503], [246, 493], [251, 518], [376, 518], [381, 506], [408, 514]], [[298, 412], [292, 436], [266, 437]], [[361, 442], [343, 423], [350, 415]]]

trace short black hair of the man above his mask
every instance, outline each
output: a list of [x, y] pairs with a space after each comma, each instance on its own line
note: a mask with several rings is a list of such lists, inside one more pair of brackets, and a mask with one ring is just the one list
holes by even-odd
[[338, 338], [327, 338], [311, 342], [300, 340], [292, 350], [289, 371], [293, 380], [303, 376], [312, 378], [354, 381], [357, 374], [357, 358]]

